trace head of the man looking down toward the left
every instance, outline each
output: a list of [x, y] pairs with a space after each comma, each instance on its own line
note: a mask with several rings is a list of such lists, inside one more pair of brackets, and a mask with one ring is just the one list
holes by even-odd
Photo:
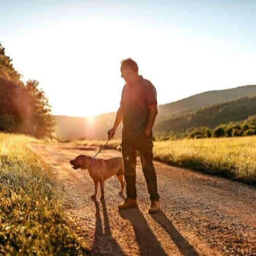
[[121, 77], [126, 83], [133, 83], [138, 79], [138, 65], [137, 63], [129, 58], [121, 61]]

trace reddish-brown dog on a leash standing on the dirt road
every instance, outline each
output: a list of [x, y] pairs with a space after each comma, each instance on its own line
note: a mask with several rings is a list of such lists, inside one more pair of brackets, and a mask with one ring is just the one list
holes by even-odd
[[101, 199], [104, 198], [104, 182], [106, 179], [116, 175], [117, 179], [121, 183], [121, 190], [119, 195], [123, 194], [124, 181], [124, 166], [122, 157], [115, 157], [111, 159], [95, 159], [89, 156], [80, 155], [75, 159], [70, 160], [70, 164], [73, 165], [74, 169], [88, 169], [90, 176], [93, 179], [95, 185], [95, 193], [92, 196], [93, 199], [96, 198], [98, 193], [98, 183], [100, 183], [101, 188]]

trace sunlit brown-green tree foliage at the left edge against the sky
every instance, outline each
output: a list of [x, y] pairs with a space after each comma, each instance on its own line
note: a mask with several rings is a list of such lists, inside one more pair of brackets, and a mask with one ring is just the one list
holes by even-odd
[[0, 131], [51, 136], [55, 123], [45, 93], [36, 80], [24, 84], [11, 61], [0, 44]]

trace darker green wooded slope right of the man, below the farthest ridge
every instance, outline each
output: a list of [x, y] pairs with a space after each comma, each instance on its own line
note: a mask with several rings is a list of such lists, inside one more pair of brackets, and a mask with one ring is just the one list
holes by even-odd
[[240, 121], [255, 114], [256, 94], [160, 121], [155, 125], [154, 131], [181, 133], [192, 127], [208, 126], [214, 128], [219, 124]]

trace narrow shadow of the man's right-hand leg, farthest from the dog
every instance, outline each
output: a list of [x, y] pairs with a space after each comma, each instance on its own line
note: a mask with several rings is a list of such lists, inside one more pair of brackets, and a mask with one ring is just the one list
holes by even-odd
[[191, 246], [182, 234], [174, 227], [172, 222], [168, 220], [163, 212], [153, 214], [151, 217], [168, 233], [170, 239], [172, 239], [183, 255], [199, 255], [193, 246]]

